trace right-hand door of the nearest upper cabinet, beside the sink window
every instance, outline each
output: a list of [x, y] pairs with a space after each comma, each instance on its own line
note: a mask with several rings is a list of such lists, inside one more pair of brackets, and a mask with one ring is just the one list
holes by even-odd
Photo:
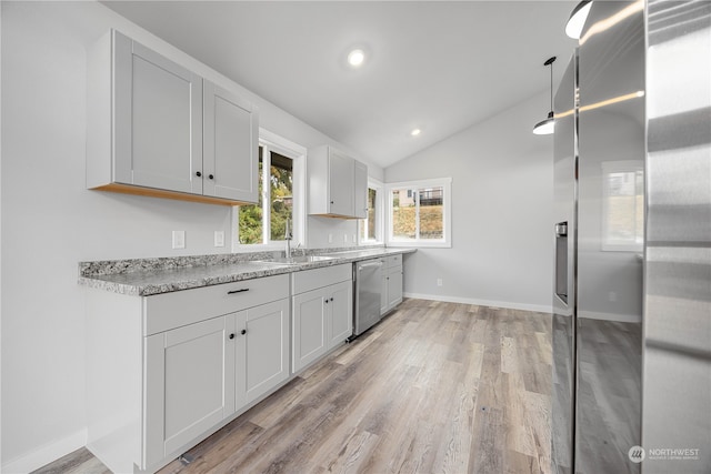
[[258, 202], [259, 125], [248, 101], [204, 81], [203, 193]]

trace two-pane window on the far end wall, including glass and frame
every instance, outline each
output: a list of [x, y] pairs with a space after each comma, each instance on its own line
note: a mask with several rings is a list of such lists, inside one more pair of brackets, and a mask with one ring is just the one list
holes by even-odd
[[451, 178], [387, 185], [388, 244], [451, 246]]

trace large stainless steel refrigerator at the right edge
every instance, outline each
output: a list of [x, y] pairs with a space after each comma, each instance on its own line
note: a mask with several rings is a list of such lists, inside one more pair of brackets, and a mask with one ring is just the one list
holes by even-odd
[[711, 472], [710, 6], [593, 1], [555, 93], [554, 473]]

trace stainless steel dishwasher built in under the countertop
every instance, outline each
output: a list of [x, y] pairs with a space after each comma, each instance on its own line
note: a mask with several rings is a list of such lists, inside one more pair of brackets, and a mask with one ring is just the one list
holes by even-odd
[[353, 264], [356, 307], [351, 340], [380, 321], [382, 291], [382, 260], [363, 260]]

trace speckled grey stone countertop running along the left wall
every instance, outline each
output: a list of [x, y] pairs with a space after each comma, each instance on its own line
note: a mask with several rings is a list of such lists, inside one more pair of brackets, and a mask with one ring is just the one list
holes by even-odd
[[[303, 263], [277, 263], [271, 254], [203, 255], [189, 258], [136, 259], [81, 262], [79, 284], [113, 293], [149, 296], [180, 290], [232, 283], [323, 266], [340, 265], [379, 256], [412, 253], [415, 249], [360, 249], [320, 252], [330, 260]], [[269, 255], [269, 256], [267, 256]]]

